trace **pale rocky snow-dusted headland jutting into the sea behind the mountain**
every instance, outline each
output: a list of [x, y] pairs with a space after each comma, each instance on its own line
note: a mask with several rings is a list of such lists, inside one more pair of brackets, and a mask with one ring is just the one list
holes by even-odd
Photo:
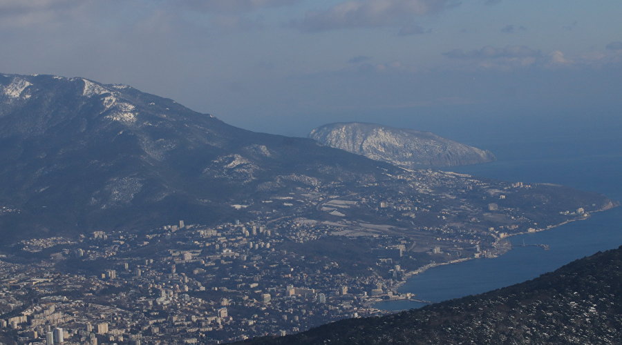
[[489, 152], [431, 132], [359, 122], [327, 124], [309, 137], [321, 144], [404, 168], [462, 166], [495, 160]]

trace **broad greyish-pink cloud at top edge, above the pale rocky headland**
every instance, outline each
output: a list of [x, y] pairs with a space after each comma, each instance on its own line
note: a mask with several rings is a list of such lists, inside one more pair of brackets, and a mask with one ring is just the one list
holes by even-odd
[[[291, 26], [305, 32], [345, 28], [408, 27], [415, 17], [458, 6], [456, 0], [358, 0], [312, 11]], [[406, 30], [406, 29], [405, 29]]]

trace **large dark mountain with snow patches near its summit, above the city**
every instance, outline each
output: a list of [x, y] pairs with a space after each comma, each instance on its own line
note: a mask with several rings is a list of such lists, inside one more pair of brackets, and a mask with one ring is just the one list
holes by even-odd
[[310, 139], [229, 126], [129, 86], [0, 75], [0, 226], [7, 235], [16, 225], [45, 231], [160, 225], [189, 215], [215, 221], [230, 216], [231, 200], [373, 180], [395, 169]]

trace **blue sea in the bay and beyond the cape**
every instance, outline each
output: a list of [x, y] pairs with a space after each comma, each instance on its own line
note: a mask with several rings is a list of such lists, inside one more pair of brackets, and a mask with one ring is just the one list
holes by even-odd
[[[563, 184], [622, 201], [622, 132], [603, 127], [589, 135], [572, 133], [559, 130], [544, 136], [471, 138], [467, 144], [491, 150], [498, 160], [448, 170], [504, 181]], [[509, 240], [513, 249], [505, 255], [431, 268], [408, 279], [399, 291], [442, 302], [525, 282], [575, 259], [618, 248], [622, 245], [622, 207]], [[522, 244], [547, 244], [549, 250]], [[402, 311], [424, 305], [383, 301], [375, 307]]]

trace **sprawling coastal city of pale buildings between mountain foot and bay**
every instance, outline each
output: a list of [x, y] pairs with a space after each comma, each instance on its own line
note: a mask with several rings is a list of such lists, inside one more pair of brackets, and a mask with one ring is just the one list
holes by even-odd
[[0, 329], [19, 344], [223, 344], [297, 333], [384, 315], [382, 300], [426, 303], [399, 286], [439, 264], [502, 255], [511, 235], [611, 206], [451, 172], [393, 181], [383, 193], [331, 184], [230, 205], [254, 220], [23, 240], [0, 257]]

